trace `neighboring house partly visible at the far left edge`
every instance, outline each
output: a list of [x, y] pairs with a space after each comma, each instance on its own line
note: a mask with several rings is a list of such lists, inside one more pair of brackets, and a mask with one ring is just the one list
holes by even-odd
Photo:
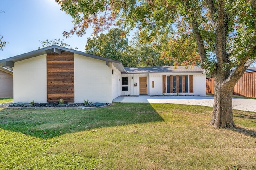
[[0, 98], [13, 97], [13, 72], [6, 67], [0, 67]]

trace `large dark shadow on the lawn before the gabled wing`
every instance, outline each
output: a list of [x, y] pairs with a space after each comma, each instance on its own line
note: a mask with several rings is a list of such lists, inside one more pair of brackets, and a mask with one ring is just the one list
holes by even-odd
[[163, 121], [150, 103], [113, 103], [98, 109], [2, 109], [0, 128], [36, 138], [101, 127]]

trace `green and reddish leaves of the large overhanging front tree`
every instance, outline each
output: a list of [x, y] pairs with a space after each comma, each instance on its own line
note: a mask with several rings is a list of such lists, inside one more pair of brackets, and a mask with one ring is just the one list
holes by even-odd
[[[199, 49], [201, 61], [212, 59], [215, 55], [220, 65], [227, 63], [235, 66], [244, 57], [255, 57], [256, 9], [251, 1], [57, 0], [57, 2], [62, 10], [74, 19], [74, 28], [70, 32], [64, 32], [66, 37], [75, 33], [82, 36], [89, 25], [94, 28], [94, 34], [111, 26], [119, 26], [126, 32], [138, 28], [144, 44], [152, 45], [160, 40], [164, 47], [164, 50], [160, 51], [164, 52], [166, 61], [167, 59], [169, 61], [174, 59], [173, 62], [179, 63], [186, 61], [184, 65], [198, 63], [196, 48]], [[220, 33], [221, 29], [217, 29], [220, 23], [224, 24], [220, 27], [224, 29], [222, 33]], [[220, 41], [217, 41], [217, 35], [220, 36]], [[217, 51], [222, 51], [222, 56]], [[118, 59], [117, 56], [112, 56]]]

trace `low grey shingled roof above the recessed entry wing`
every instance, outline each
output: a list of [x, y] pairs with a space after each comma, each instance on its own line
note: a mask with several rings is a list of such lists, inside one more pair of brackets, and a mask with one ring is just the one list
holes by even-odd
[[174, 66], [159, 66], [159, 67], [125, 67], [128, 74], [140, 74], [140, 73], [202, 73], [204, 69], [198, 66], [191, 68], [188, 66], [178, 66], [174, 69]]

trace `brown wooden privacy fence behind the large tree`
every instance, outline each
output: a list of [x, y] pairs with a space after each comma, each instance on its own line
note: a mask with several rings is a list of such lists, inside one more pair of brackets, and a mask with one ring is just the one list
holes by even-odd
[[[244, 73], [235, 85], [233, 95], [256, 97], [256, 71]], [[206, 94], [214, 94], [214, 79], [206, 78]]]

